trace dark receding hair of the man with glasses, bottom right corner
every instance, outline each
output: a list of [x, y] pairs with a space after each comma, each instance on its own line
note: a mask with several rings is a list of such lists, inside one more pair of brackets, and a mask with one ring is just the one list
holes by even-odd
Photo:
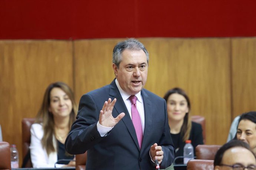
[[[250, 146], [247, 143], [245, 143], [241, 140], [230, 140], [228, 143], [225, 143], [223, 146], [221, 146], [220, 149], [217, 151], [215, 158], [214, 158], [214, 163], [213, 163], [214, 167], [217, 165], [221, 165], [224, 153], [228, 149], [233, 148], [233, 147], [244, 147], [245, 149], [249, 150], [255, 157], [255, 154], [252, 152], [252, 149], [250, 148]], [[255, 159], [256, 159], [256, 157], [255, 157]]]

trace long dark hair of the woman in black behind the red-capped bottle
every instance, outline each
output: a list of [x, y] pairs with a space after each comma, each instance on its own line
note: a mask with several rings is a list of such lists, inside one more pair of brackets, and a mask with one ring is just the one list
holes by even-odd
[[189, 138], [190, 130], [191, 130], [191, 126], [192, 126], [191, 125], [191, 119], [190, 119], [190, 116], [189, 116], [189, 112], [190, 112], [190, 108], [191, 108], [190, 100], [188, 98], [188, 95], [186, 94], [186, 92], [183, 89], [175, 87], [175, 88], [170, 89], [169, 91], [167, 91], [165, 93], [165, 95], [164, 95], [165, 101], [167, 102], [169, 96], [174, 94], [174, 93], [177, 93], [177, 94], [180, 94], [180, 95], [184, 96], [184, 98], [186, 99], [187, 104], [188, 104], [188, 112], [186, 113], [186, 115], [184, 117], [183, 125], [181, 126], [181, 136], [183, 136], [183, 141], [186, 141]]

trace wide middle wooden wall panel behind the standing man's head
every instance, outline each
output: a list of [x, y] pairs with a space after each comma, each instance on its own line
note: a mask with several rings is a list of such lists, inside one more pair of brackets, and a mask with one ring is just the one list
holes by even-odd
[[[139, 40], [150, 53], [145, 88], [161, 97], [174, 86], [184, 88], [191, 98], [192, 114], [206, 117], [207, 134], [210, 134], [207, 135], [207, 144], [223, 144], [231, 120], [230, 40]], [[112, 50], [118, 41], [120, 40], [75, 41], [76, 96], [112, 81]]]

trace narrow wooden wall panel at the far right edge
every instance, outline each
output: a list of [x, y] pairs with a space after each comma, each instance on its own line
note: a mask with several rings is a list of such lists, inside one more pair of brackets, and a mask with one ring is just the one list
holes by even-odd
[[232, 39], [233, 118], [256, 110], [256, 38]]

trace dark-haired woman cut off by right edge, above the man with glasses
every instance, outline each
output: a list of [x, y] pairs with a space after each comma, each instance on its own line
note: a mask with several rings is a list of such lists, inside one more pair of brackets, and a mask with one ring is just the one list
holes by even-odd
[[243, 113], [240, 116], [236, 138], [248, 143], [256, 154], [256, 112]]

